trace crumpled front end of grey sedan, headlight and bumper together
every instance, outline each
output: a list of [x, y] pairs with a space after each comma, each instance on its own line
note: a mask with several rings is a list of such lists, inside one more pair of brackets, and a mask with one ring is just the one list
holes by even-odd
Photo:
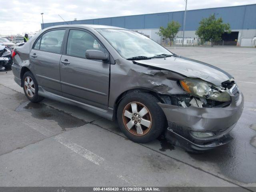
[[244, 106], [233, 79], [215, 86], [199, 78], [179, 80], [186, 94], [162, 96], [168, 120], [166, 138], [188, 151], [204, 151], [230, 142], [228, 134]]

